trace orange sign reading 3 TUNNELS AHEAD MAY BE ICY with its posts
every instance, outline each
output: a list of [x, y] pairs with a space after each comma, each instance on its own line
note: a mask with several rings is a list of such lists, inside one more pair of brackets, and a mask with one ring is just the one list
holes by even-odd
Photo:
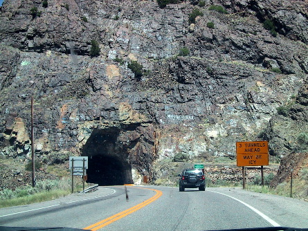
[[262, 186], [264, 186], [263, 166], [269, 165], [269, 142], [236, 142], [237, 166], [242, 166], [243, 189], [245, 183], [245, 166], [261, 166]]

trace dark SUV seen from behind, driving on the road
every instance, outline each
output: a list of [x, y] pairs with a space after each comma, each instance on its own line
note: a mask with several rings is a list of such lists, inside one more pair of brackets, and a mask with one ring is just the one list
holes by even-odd
[[183, 192], [185, 187], [199, 187], [200, 191], [206, 190], [206, 179], [202, 169], [184, 169], [179, 180], [179, 190]]

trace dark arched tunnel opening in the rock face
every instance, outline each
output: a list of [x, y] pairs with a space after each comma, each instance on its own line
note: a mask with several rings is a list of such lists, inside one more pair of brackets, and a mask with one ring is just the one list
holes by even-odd
[[89, 183], [98, 185], [123, 185], [133, 183], [132, 166], [128, 163], [127, 147], [119, 141], [120, 129], [94, 129], [82, 149], [88, 156]]

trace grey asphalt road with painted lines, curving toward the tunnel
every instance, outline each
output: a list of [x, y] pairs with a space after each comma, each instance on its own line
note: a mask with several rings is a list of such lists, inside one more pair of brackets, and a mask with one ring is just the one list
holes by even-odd
[[[91, 230], [308, 228], [308, 203], [235, 188], [205, 192], [154, 186], [99, 187], [89, 194], [0, 209], [0, 226]], [[0, 228], [1, 229], [1, 228]]]

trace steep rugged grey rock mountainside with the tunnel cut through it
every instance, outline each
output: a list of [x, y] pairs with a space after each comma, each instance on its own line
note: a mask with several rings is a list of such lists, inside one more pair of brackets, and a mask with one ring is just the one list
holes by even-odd
[[[308, 133], [307, 2], [205, 2], [5, 0], [0, 155], [30, 155], [32, 95], [37, 156], [89, 156], [100, 183], [140, 181], [154, 160], [179, 153], [234, 158], [236, 141], [267, 138], [272, 155], [292, 152], [298, 127]], [[228, 14], [208, 10], [216, 4]], [[191, 25], [194, 8], [203, 16]]]

